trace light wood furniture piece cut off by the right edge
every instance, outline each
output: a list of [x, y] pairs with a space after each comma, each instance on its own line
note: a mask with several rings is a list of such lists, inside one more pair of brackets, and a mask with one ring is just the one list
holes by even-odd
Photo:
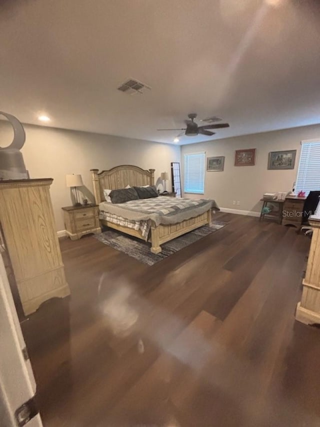
[[320, 218], [309, 217], [312, 239], [305, 277], [302, 280], [301, 301], [296, 307], [295, 318], [306, 324], [320, 323]]

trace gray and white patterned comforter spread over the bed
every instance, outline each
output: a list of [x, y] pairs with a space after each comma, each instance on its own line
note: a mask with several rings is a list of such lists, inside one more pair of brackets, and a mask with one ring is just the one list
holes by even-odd
[[99, 204], [102, 212], [121, 216], [131, 221], [153, 221], [155, 225], [175, 224], [190, 219], [213, 208], [219, 210], [214, 200], [173, 198], [166, 196], [130, 200], [124, 203]]

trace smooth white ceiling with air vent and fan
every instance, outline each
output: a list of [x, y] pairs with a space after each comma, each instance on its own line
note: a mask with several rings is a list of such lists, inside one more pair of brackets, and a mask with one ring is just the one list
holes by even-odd
[[[1, 0], [0, 110], [24, 123], [172, 142], [320, 122], [319, 0]], [[151, 86], [116, 90], [128, 77]]]

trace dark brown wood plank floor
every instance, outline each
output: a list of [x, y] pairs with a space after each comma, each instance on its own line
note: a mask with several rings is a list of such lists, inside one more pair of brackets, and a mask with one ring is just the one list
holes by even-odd
[[71, 297], [22, 324], [44, 426], [320, 425], [320, 330], [294, 320], [309, 239], [215, 219], [151, 267], [61, 241]]

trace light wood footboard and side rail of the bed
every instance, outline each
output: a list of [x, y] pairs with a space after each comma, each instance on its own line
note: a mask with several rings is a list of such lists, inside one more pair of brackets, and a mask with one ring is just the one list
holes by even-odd
[[[122, 225], [114, 224], [113, 222], [100, 220], [101, 224], [106, 225], [115, 230], [121, 231], [125, 234], [132, 235], [144, 240], [140, 230], [134, 230], [132, 228], [124, 227]], [[185, 221], [178, 222], [176, 224], [160, 224], [158, 226], [151, 225], [151, 233], [149, 241], [151, 242], [151, 252], [161, 252], [161, 244], [166, 241], [172, 240], [179, 235], [185, 234], [195, 228], [201, 227], [202, 225], [209, 224], [211, 222], [211, 209], [207, 210], [201, 215], [195, 216], [194, 218], [186, 219]]]

